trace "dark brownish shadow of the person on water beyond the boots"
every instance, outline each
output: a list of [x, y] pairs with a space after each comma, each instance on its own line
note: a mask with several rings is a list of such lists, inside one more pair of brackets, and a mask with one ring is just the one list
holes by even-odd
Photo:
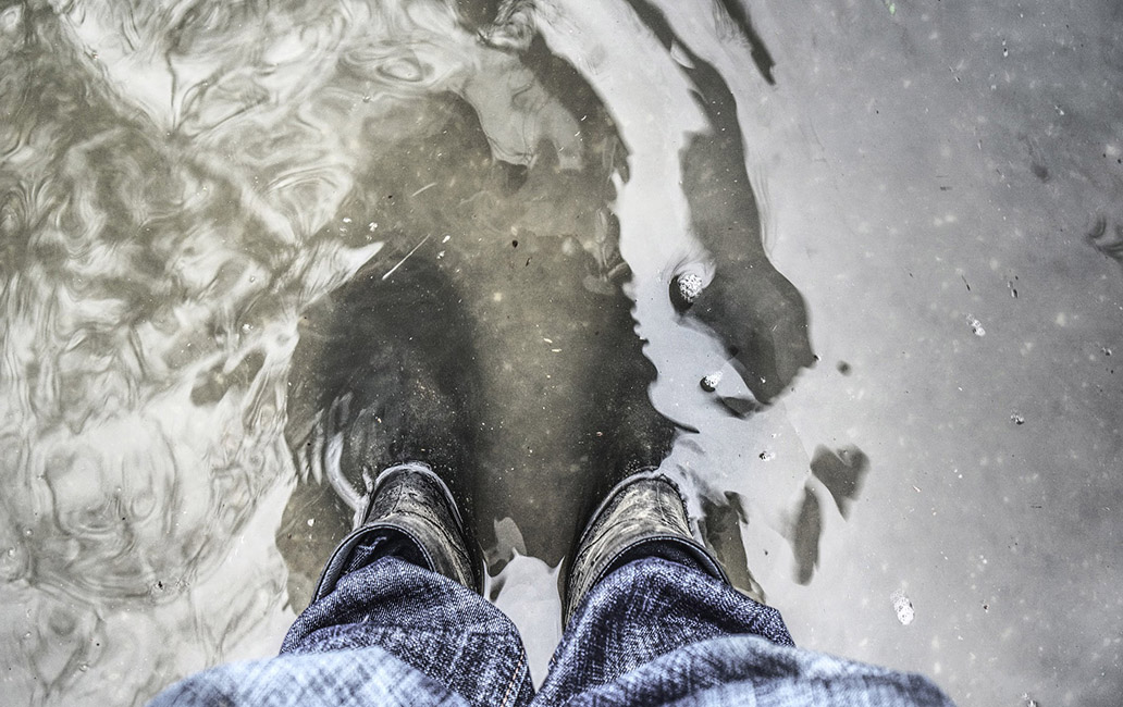
[[[626, 180], [628, 166], [611, 107], [537, 35], [508, 56], [465, 100], [433, 103], [447, 112], [439, 130], [383, 146], [340, 210], [391, 238], [304, 318], [286, 435], [312, 471], [277, 533], [286, 557], [302, 558], [290, 562], [302, 566], [291, 581], [300, 598], [308, 591], [293, 582], [312, 581], [311, 558], [347, 531], [337, 498], [359, 507], [389, 463], [423, 458], [456, 477], [493, 569], [511, 550], [556, 564], [596, 501], [628, 472], [658, 466], [676, 434], [648, 396], [657, 371], [623, 291], [630, 276], [610, 206], [612, 178]], [[802, 296], [763, 247], [736, 101], [715, 70], [692, 59], [711, 129], [681, 156], [683, 184], [713, 275], [681, 321], [729, 352], [756, 397], [748, 408], [725, 404], [743, 416], [813, 357]], [[562, 164], [545, 143], [522, 164], [499, 158], [520, 154], [509, 147], [519, 136], [496, 137], [510, 99], [490, 86], [530, 82], [527, 71], [536, 91], [579, 118], [576, 162]], [[705, 507], [728, 535], [728, 507]], [[519, 527], [517, 547], [496, 544], [502, 518]]]

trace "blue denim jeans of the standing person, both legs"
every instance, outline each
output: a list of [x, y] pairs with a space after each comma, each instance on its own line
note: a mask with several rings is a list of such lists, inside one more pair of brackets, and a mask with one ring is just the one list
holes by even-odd
[[480, 595], [383, 558], [309, 606], [277, 658], [212, 668], [154, 705], [950, 706], [925, 678], [795, 648], [779, 613], [640, 559], [585, 596], [535, 694], [514, 625]]

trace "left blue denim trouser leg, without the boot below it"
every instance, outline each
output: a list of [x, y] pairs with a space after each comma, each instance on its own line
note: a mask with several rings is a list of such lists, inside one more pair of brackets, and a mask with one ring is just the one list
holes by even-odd
[[522, 643], [499, 609], [446, 577], [384, 557], [313, 602], [280, 656], [192, 676], [153, 704], [506, 707], [530, 697]]

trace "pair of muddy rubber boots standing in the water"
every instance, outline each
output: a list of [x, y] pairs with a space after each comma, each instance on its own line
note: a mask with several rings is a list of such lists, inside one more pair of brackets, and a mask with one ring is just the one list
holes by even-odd
[[[355, 556], [394, 556], [483, 591], [483, 561], [472, 529], [448, 486], [423, 463], [378, 475], [359, 526], [328, 560], [312, 600], [330, 594], [357, 569]], [[724, 570], [694, 540], [678, 488], [665, 476], [641, 472], [612, 489], [593, 513], [567, 562], [562, 597], [568, 624], [582, 598], [612, 570], [645, 557], [687, 562], [724, 582]]]

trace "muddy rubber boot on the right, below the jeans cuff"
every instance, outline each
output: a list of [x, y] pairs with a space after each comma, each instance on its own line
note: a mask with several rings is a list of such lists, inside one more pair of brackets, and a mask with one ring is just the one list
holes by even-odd
[[585, 594], [612, 570], [649, 557], [696, 567], [729, 584], [718, 561], [691, 534], [678, 487], [645, 471], [608, 495], [577, 541], [565, 572], [563, 622], [569, 623]]

